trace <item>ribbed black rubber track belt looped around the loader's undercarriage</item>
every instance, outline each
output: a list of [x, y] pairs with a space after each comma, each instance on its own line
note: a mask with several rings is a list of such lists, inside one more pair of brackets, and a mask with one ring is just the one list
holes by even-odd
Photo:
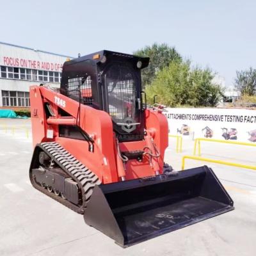
[[33, 186], [45, 195], [50, 196], [54, 200], [57, 200], [58, 202], [67, 206], [73, 211], [83, 214], [84, 208], [86, 207], [87, 202], [88, 200], [90, 200], [90, 196], [92, 195], [94, 186], [100, 184], [100, 180], [97, 175], [95, 175], [95, 173], [86, 168], [86, 166], [80, 163], [76, 159], [76, 157], [72, 156], [72, 154], [70, 154], [67, 150], [65, 150], [63, 147], [61, 147], [60, 144], [56, 142], [40, 143], [38, 147], [42, 148], [42, 150], [49, 157], [51, 157], [51, 159], [53, 159], [54, 162], [58, 164], [58, 166], [60, 166], [60, 168], [65, 173], [67, 173], [70, 177], [72, 177], [72, 179], [77, 182], [82, 192], [83, 204], [81, 206], [78, 206], [72, 204], [71, 202], [68, 202], [68, 200], [61, 198], [61, 196], [56, 196], [54, 193], [47, 191], [47, 189], [45, 188], [42, 188], [42, 186], [38, 185], [35, 182], [35, 179], [30, 177]]

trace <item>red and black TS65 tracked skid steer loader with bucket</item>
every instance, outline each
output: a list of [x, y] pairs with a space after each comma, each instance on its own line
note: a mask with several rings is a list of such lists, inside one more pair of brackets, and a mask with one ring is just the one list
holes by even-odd
[[60, 92], [31, 86], [33, 186], [126, 247], [234, 209], [211, 168], [164, 163], [168, 123], [141, 91], [148, 58], [64, 63]]

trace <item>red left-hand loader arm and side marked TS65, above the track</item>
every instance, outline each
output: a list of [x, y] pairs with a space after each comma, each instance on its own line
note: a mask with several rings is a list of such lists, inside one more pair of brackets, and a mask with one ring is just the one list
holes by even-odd
[[[83, 104], [80, 106], [80, 128], [93, 141], [93, 152], [90, 152], [88, 141], [64, 138], [60, 134], [60, 126], [77, 126], [79, 102], [44, 86], [32, 86], [30, 100], [34, 147], [45, 141], [56, 141], [67, 148], [68, 152], [81, 163], [95, 170], [94, 172], [102, 182], [118, 181], [113, 150], [113, 128], [108, 113]], [[58, 104], [58, 102], [61, 103]], [[55, 116], [46, 115], [45, 104], [49, 104]], [[68, 115], [60, 115], [60, 109]], [[52, 138], [47, 138], [47, 132], [48, 134], [52, 132]]]

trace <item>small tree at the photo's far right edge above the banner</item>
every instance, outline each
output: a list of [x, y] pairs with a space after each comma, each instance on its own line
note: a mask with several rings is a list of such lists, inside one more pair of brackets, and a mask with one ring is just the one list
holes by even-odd
[[235, 86], [242, 95], [256, 95], [256, 69], [237, 71]]

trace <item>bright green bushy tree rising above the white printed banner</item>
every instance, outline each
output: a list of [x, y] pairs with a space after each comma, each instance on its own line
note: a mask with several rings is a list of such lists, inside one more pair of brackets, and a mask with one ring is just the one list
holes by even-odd
[[216, 106], [223, 92], [212, 83], [213, 77], [209, 68], [191, 68], [190, 61], [174, 60], [146, 86], [148, 101], [157, 95], [157, 102], [171, 107]]

